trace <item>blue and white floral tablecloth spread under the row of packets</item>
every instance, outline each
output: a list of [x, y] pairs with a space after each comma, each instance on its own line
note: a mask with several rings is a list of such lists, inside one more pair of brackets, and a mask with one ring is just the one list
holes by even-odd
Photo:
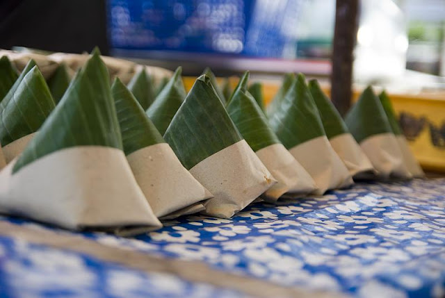
[[[13, 218], [3, 220], [29, 224]], [[276, 206], [253, 204], [232, 220], [181, 217], [165, 222], [159, 231], [137, 238], [104, 233], [83, 235], [104, 245], [200, 260], [217, 270], [309, 290], [355, 297], [445, 295], [445, 179], [357, 183], [323, 197], [286, 199]], [[42, 259], [54, 262], [47, 265], [37, 258], [28, 260], [33, 258], [28, 254], [34, 251]], [[171, 288], [184, 290], [183, 296], [193, 295], [193, 291], [208, 297], [217, 297], [216, 293], [241, 295], [175, 276], [117, 267], [80, 254], [70, 253], [70, 258], [76, 260], [67, 264], [63, 258], [58, 259], [62, 253], [66, 252], [0, 238], [0, 289], [16, 289], [15, 283], [24, 275], [32, 282], [21, 283], [20, 289], [29, 293], [44, 292], [56, 285], [65, 291], [79, 290], [82, 287], [77, 283], [88, 283], [87, 288], [96, 295], [106, 295], [112, 287], [121, 287], [122, 291], [141, 287], [141, 291], [159, 290], [162, 295], [165, 289], [157, 289], [158, 284], [171, 283], [175, 285]], [[50, 270], [49, 274], [60, 276], [59, 269], [79, 280], [58, 283], [40, 274]], [[110, 280], [116, 274], [120, 283], [114, 285]], [[91, 281], [85, 276], [90, 276]], [[154, 282], [156, 279], [165, 283]]]

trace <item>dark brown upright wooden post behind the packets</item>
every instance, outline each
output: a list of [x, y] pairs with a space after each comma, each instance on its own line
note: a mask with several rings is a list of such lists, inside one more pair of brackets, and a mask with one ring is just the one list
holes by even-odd
[[337, 0], [332, 46], [331, 98], [344, 116], [352, 101], [353, 50], [357, 36], [358, 0]]

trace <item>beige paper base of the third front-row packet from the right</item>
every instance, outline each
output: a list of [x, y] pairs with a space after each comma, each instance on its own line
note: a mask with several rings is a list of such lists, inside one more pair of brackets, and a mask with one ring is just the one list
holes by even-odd
[[371, 161], [364, 154], [353, 135], [342, 133], [331, 138], [329, 142], [352, 176], [362, 172], [373, 172]]

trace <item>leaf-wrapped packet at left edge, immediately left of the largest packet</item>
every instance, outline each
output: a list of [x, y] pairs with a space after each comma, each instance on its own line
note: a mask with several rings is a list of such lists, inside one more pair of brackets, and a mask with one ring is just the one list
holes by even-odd
[[22, 153], [56, 104], [33, 60], [0, 103], [0, 143], [6, 163]]

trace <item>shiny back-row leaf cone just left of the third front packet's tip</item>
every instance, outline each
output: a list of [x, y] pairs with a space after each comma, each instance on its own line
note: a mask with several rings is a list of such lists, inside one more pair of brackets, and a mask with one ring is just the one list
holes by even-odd
[[165, 88], [147, 110], [148, 117], [161, 134], [164, 134], [167, 130], [186, 96], [187, 92], [181, 78], [181, 67], [178, 67]]

